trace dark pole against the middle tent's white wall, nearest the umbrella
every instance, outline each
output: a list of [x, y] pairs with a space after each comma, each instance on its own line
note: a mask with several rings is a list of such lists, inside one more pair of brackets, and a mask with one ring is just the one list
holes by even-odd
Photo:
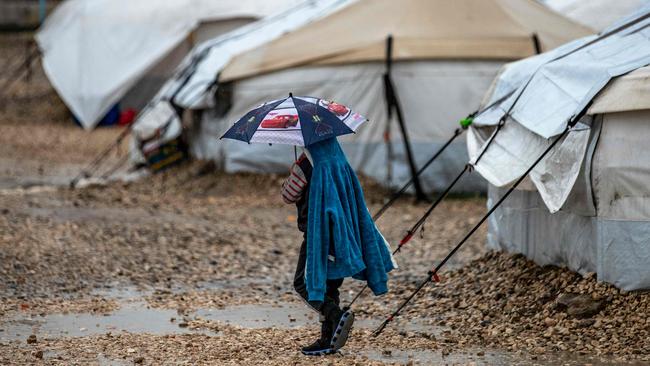
[[395, 85], [393, 84], [393, 79], [391, 78], [391, 71], [393, 65], [393, 36], [389, 35], [386, 38], [386, 73], [384, 74], [384, 86], [386, 88], [386, 104], [388, 105], [389, 118], [391, 116], [391, 111], [394, 109], [397, 114], [397, 121], [399, 122], [399, 128], [402, 133], [402, 138], [404, 140], [404, 149], [406, 150], [406, 157], [409, 163], [409, 169], [411, 170], [411, 178], [413, 179], [413, 187], [415, 188], [415, 198], [418, 201], [426, 201], [427, 196], [422, 190], [422, 184], [420, 183], [420, 178], [417, 174], [417, 167], [415, 166], [415, 159], [413, 157], [413, 150], [411, 149], [411, 141], [409, 139], [408, 131], [406, 129], [406, 124], [404, 122], [404, 114], [402, 113], [402, 107], [399, 104], [399, 99], [397, 97], [397, 91], [395, 90]]

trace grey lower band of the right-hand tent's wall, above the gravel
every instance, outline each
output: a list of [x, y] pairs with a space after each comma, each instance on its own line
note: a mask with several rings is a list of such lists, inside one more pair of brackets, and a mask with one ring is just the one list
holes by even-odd
[[[490, 186], [488, 206], [503, 194]], [[599, 281], [624, 290], [650, 288], [650, 224], [583, 216], [570, 210], [554, 214], [539, 193], [516, 190], [488, 219], [488, 247], [522, 253], [539, 265], [596, 272]]]

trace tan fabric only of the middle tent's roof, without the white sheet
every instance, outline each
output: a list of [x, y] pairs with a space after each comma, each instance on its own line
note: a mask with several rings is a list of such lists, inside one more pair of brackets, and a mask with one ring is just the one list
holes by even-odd
[[380, 61], [392, 34], [396, 60], [514, 60], [592, 31], [535, 0], [360, 0], [234, 58], [221, 80], [295, 66]]

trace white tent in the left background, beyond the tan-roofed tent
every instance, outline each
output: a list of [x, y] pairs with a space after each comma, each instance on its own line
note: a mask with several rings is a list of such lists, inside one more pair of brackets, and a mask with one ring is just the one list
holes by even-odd
[[194, 46], [290, 0], [68, 0], [36, 40], [63, 101], [87, 128], [117, 102], [142, 107]]

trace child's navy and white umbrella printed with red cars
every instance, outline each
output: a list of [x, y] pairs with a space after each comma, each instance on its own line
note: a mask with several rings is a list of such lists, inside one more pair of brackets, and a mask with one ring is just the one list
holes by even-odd
[[264, 103], [246, 113], [221, 138], [309, 146], [354, 133], [366, 121], [342, 104], [289, 94], [288, 98]]

